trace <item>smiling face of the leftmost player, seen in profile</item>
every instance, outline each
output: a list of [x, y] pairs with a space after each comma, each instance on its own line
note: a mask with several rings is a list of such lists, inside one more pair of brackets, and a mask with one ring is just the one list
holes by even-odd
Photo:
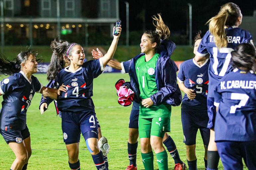
[[24, 64], [21, 64], [21, 70], [34, 74], [37, 72], [37, 61], [33, 54], [30, 54]]

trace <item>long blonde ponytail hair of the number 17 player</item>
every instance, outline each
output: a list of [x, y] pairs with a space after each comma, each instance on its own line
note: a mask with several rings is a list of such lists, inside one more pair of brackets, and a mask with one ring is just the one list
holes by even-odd
[[206, 22], [206, 24], [209, 24], [209, 31], [214, 37], [217, 48], [227, 47], [227, 37], [224, 26], [235, 25], [237, 18], [240, 16], [240, 8], [236, 4], [229, 2], [222, 5], [219, 13]]

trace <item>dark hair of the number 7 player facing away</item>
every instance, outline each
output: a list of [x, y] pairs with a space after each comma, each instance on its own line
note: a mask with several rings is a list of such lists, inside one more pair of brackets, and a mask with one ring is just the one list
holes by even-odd
[[239, 68], [246, 72], [253, 70], [256, 72], [256, 50], [255, 47], [249, 43], [242, 43], [236, 46], [235, 50], [231, 52], [231, 64], [235, 68]]

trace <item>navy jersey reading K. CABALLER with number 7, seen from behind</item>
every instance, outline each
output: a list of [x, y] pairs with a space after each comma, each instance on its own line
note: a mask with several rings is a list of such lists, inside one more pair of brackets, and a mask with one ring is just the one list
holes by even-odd
[[256, 74], [234, 69], [216, 86], [215, 141], [256, 140]]

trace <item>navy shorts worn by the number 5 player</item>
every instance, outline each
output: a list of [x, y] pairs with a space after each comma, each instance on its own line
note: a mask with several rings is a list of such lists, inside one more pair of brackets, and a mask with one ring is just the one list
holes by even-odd
[[210, 129], [207, 128], [208, 123], [207, 111], [203, 110], [181, 110], [181, 122], [184, 135], [184, 143], [186, 145], [194, 145], [196, 142], [197, 130], [200, 130], [204, 145], [209, 144]]

